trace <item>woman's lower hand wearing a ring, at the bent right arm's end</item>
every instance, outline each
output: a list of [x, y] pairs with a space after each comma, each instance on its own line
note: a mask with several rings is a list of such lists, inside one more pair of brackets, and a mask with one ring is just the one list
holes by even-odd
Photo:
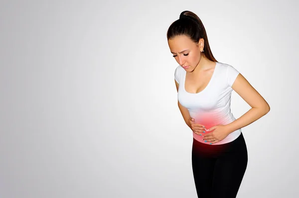
[[206, 131], [212, 131], [212, 130], [214, 130], [214, 131], [202, 136], [203, 140], [207, 140], [208, 142], [211, 142], [212, 144], [216, 143], [216, 142], [220, 142], [221, 140], [226, 138], [226, 136], [228, 136], [228, 134], [229, 134], [227, 127], [222, 124], [213, 126], [209, 129], [207, 129]]

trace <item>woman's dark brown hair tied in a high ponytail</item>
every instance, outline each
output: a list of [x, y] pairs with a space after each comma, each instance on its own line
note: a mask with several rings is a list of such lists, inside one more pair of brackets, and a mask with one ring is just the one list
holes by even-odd
[[210, 49], [207, 33], [200, 18], [193, 12], [185, 10], [181, 12], [180, 18], [174, 21], [167, 30], [167, 40], [173, 39], [178, 35], [186, 35], [193, 42], [198, 43], [203, 38], [203, 53], [210, 61], [216, 61]]

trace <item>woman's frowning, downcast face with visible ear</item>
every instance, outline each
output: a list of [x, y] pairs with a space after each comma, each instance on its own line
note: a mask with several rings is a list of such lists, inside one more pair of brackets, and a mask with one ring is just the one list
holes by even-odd
[[203, 39], [201, 38], [197, 44], [188, 36], [179, 35], [169, 39], [168, 46], [176, 62], [186, 71], [193, 71], [201, 59]]

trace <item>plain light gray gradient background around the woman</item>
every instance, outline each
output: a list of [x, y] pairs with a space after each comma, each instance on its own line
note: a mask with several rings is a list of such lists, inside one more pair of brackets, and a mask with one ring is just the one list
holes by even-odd
[[[157, 6], [158, 5], [158, 6]], [[271, 111], [244, 127], [238, 198], [296, 198], [298, 1], [0, 2], [0, 197], [195, 198], [166, 31], [205, 25]], [[232, 94], [232, 112], [250, 106]], [[204, 191], [204, 189], [203, 189]]]

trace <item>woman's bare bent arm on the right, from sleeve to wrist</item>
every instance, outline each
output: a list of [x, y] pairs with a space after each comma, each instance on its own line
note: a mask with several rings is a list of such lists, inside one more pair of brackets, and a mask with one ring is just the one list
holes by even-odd
[[252, 108], [238, 119], [225, 125], [228, 134], [251, 124], [270, 111], [267, 101], [239, 74], [232, 85], [232, 89], [240, 95]]

